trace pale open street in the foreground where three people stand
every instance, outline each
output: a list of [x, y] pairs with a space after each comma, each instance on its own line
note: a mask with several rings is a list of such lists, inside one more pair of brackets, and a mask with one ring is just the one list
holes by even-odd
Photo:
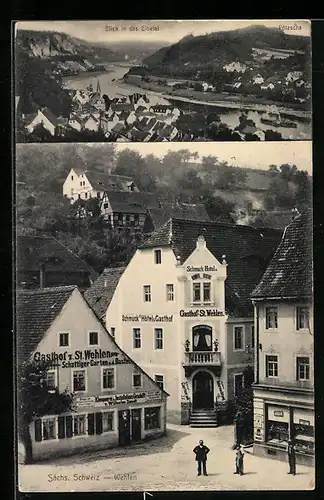
[[[199, 439], [210, 448], [208, 477], [197, 477], [192, 449]], [[168, 425], [168, 435], [132, 448], [116, 448], [19, 466], [22, 492], [310, 490], [315, 471], [245, 452], [244, 476], [234, 475], [233, 427], [199, 429]], [[91, 476], [92, 475], [92, 476]], [[88, 476], [88, 477], [87, 477]], [[91, 476], [91, 477], [89, 477]], [[59, 479], [61, 478], [61, 479]]]

